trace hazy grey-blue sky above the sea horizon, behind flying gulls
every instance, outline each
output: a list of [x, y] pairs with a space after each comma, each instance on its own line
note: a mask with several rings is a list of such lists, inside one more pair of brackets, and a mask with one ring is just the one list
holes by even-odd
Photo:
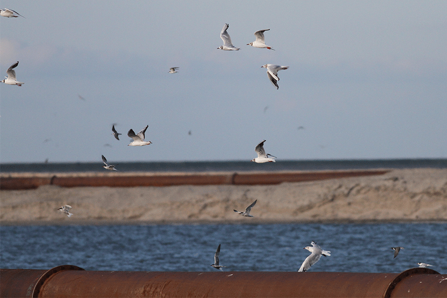
[[[26, 17], [0, 17], [0, 73], [25, 82], [0, 83], [1, 162], [447, 157], [447, 1], [0, 6]], [[261, 29], [276, 51], [246, 45]]]

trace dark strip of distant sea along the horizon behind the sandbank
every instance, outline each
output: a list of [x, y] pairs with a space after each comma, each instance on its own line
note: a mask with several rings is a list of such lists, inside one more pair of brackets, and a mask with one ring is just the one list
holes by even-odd
[[[251, 161], [116, 162], [119, 170], [144, 172], [286, 171], [342, 170], [373, 168], [447, 168], [447, 158], [359, 159], [359, 160], [278, 160], [258, 164]], [[1, 172], [85, 172], [105, 171], [102, 162], [1, 163]], [[117, 167], [118, 168], [118, 167]]]

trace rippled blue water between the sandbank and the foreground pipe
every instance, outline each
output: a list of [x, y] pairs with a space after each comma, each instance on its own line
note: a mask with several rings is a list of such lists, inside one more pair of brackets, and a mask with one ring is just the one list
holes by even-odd
[[[198, 224], [1, 226], [0, 267], [85, 270], [297, 271], [316, 241], [330, 257], [309, 271], [447, 273], [447, 224]], [[393, 259], [391, 246], [403, 246]]]

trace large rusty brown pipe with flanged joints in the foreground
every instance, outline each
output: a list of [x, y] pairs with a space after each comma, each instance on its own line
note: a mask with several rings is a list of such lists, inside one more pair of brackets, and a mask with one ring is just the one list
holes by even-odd
[[447, 297], [447, 275], [427, 268], [400, 274], [126, 272], [64, 265], [0, 274], [1, 297]]

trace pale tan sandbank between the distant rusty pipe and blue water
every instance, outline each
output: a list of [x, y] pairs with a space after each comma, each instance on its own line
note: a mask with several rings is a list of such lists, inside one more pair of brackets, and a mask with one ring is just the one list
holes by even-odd
[[[244, 218], [243, 211], [258, 200]], [[71, 205], [72, 218], [59, 212]], [[59, 187], [0, 191], [0, 224], [447, 221], [447, 169], [276, 185]]]

